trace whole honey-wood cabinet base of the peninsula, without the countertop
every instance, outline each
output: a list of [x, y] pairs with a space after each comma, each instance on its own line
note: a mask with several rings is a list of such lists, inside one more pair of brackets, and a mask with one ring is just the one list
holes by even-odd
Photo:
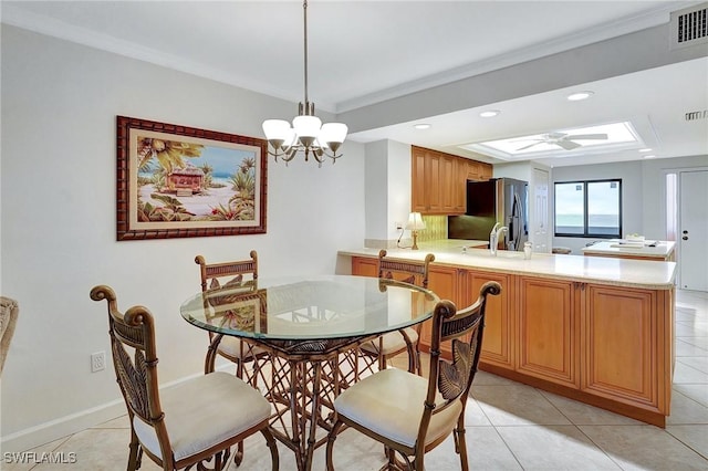
[[[353, 258], [352, 272], [376, 276], [376, 259]], [[674, 289], [639, 289], [523, 273], [430, 265], [428, 286], [458, 308], [486, 281], [480, 369], [665, 427], [674, 370]], [[430, 347], [425, 323], [420, 349]], [[449, 345], [442, 356], [450, 357]]]

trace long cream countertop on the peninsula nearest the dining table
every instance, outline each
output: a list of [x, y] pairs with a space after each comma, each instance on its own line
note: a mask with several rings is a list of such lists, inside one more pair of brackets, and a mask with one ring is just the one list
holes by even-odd
[[[560, 255], [534, 253], [530, 260], [523, 259], [523, 252], [498, 251], [491, 255], [488, 249], [467, 249], [480, 241], [444, 240], [418, 243], [419, 250], [386, 249], [388, 257], [424, 260], [427, 253], [435, 254], [435, 264], [471, 268], [510, 274], [528, 274], [541, 278], [564, 279], [581, 282], [594, 282], [649, 290], [674, 289], [676, 278], [675, 262], [653, 260], [632, 260], [620, 258]], [[487, 243], [487, 241], [483, 241]], [[345, 257], [378, 257], [379, 249], [340, 250]]]

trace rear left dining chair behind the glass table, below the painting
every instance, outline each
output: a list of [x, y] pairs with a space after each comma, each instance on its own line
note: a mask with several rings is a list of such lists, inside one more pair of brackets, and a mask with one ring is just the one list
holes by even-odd
[[[207, 292], [220, 287], [242, 287], [249, 285], [256, 289], [258, 284], [258, 253], [251, 250], [250, 257], [248, 260], [207, 264], [202, 255], [197, 255], [195, 263], [199, 265], [201, 291]], [[248, 279], [244, 279], [244, 275]], [[228, 335], [218, 335], [214, 332], [209, 332], [209, 348], [216, 348], [219, 356], [236, 364], [236, 376], [249, 380], [253, 386], [258, 386], [258, 360], [268, 357], [268, 354], [262, 348], [254, 346], [248, 341]], [[208, 355], [207, 358], [209, 358]], [[244, 368], [244, 364], [248, 363], [253, 363], [254, 371], [252, 374], [249, 374]], [[205, 365], [205, 373], [212, 369], [214, 365]]]

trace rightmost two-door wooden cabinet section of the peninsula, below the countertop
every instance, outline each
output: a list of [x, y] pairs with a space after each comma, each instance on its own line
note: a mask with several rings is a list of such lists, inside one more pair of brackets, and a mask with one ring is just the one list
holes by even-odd
[[[521, 276], [516, 373], [564, 386], [569, 389], [553, 390], [564, 396], [664, 427], [673, 312], [671, 291]], [[631, 414], [627, 406], [634, 408]]]

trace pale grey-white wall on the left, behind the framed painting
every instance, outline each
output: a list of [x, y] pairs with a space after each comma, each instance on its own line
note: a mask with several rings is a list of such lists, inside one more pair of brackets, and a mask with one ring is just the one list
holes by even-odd
[[[207, 334], [179, 305], [207, 260], [259, 251], [269, 273], [333, 273], [336, 251], [364, 239], [364, 148], [322, 168], [269, 160], [268, 233], [115, 241], [115, 119], [126, 115], [261, 137], [295, 105], [107, 52], [2, 25], [1, 293], [20, 304], [2, 377], [6, 451], [20, 451], [125, 414], [112, 367], [105, 303], [156, 316], [160, 383], [202, 369]], [[324, 116], [326, 118], [326, 116]], [[39, 441], [39, 442], [38, 442]]]

